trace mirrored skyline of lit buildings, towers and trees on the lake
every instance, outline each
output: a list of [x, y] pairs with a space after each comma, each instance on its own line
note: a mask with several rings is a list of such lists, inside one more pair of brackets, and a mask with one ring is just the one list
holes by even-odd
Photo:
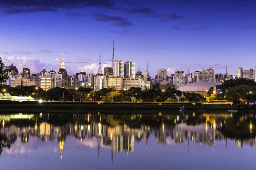
[[[73, 136], [82, 141], [87, 138], [97, 140], [98, 158], [100, 147], [111, 148], [113, 153], [129, 154], [135, 150], [135, 142], [148, 140], [155, 136], [159, 145], [170, 143], [199, 143], [213, 146], [215, 141], [235, 140], [237, 147], [255, 146], [255, 115], [253, 114], [8, 114], [0, 115], [2, 122], [1, 152], [8, 149], [21, 138], [28, 143], [30, 137], [42, 142], [57, 139], [60, 160], [65, 155], [65, 140]], [[102, 141], [102, 142], [101, 142]], [[111, 164], [112, 164], [111, 163]]]

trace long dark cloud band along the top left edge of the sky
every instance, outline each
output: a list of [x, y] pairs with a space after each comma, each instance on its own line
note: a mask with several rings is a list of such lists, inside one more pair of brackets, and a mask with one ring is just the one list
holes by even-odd
[[39, 12], [39, 11], [57, 11], [58, 9], [72, 9], [84, 7], [103, 7], [115, 8], [115, 4], [110, 0], [3, 0], [0, 2], [0, 10], [4, 15]]

